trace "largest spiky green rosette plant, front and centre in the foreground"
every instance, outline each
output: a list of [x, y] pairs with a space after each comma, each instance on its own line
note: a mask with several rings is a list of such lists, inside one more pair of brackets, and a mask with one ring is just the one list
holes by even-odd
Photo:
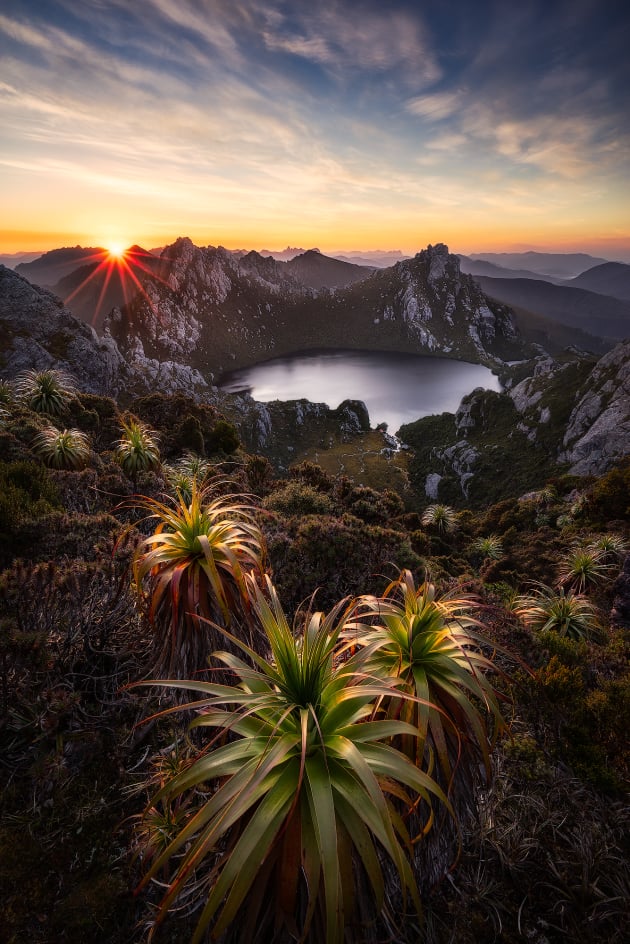
[[197, 790], [202, 804], [153, 859], [142, 885], [175, 860], [158, 922], [182, 895], [194, 897], [196, 885], [206, 901], [193, 942], [206, 933], [284, 940], [284, 930], [291, 940], [341, 944], [348, 924], [366, 914], [373, 920], [386, 907], [391, 874], [384, 865], [420, 908], [398, 807], [447, 801], [388, 743], [416, 737], [415, 729], [374, 719], [374, 704], [392, 692], [393, 680], [370, 678], [356, 659], [337, 658], [352, 613], [346, 601], [327, 615], [307, 614], [296, 634], [269, 578], [266, 595], [248, 584], [272, 657], [240, 643], [247, 662], [218, 654], [237, 684], [179, 683], [203, 696], [193, 726], [216, 734], [152, 800], [155, 808]]

